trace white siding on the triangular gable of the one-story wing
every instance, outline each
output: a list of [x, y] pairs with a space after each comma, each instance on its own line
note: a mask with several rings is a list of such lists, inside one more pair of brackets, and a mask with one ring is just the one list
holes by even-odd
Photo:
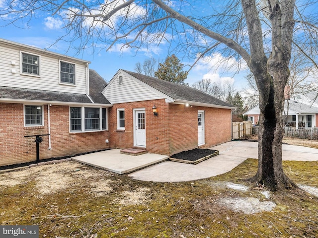
[[[119, 83], [119, 77], [122, 77], [122, 84]], [[103, 94], [112, 104], [164, 98], [139, 80], [134, 80], [124, 73], [115, 75]]]

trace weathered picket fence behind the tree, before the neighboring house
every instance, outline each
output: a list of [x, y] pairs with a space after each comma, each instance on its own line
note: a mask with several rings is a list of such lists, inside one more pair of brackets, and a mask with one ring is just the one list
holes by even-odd
[[[295, 137], [301, 139], [315, 139], [318, 140], [318, 127], [304, 128], [304, 127], [284, 127], [285, 137]], [[258, 126], [253, 126], [253, 134], [258, 134]]]

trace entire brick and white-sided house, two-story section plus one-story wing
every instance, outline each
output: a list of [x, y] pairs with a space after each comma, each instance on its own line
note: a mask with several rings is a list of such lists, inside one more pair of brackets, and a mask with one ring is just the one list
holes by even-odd
[[[172, 155], [231, 140], [233, 106], [196, 89], [0, 39], [0, 166], [107, 148]], [[153, 112], [157, 110], [157, 112]]]

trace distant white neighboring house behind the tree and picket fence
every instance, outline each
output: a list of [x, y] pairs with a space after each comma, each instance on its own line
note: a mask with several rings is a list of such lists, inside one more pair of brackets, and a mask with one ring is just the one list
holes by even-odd
[[[247, 115], [248, 120], [253, 124], [258, 124], [259, 105], [248, 110], [243, 115]], [[316, 127], [318, 125], [318, 108], [310, 104], [300, 103], [294, 100], [285, 100], [283, 118], [286, 118], [287, 126]]]

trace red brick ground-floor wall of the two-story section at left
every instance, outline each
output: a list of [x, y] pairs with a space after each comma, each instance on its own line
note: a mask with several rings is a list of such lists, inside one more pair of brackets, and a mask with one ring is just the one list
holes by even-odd
[[[0, 166], [36, 160], [35, 134], [48, 134], [47, 105], [44, 105], [44, 126], [24, 127], [23, 104], [0, 103]], [[63, 157], [109, 147], [108, 131], [70, 133], [69, 107], [50, 107], [51, 150], [49, 137], [42, 136], [40, 159]]]

